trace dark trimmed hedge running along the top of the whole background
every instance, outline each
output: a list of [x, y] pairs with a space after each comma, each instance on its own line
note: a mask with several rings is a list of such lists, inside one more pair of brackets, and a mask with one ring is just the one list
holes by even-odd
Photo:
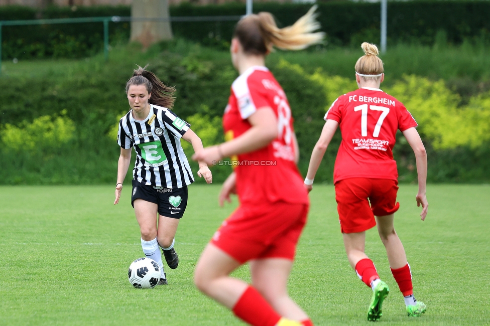
[[[254, 12], [268, 11], [279, 26], [288, 26], [304, 15], [310, 4], [254, 4]], [[173, 17], [239, 16], [245, 5], [196, 6], [183, 3], [170, 8]], [[327, 46], [358, 46], [363, 41], [380, 42], [380, 4], [354, 2], [318, 3], [318, 20], [327, 33]], [[0, 7], [0, 20], [36, 18], [108, 17], [131, 15], [128, 6], [119, 7], [48, 7], [42, 12], [28, 7]], [[388, 3], [388, 44], [414, 43], [432, 45], [437, 36], [446, 42], [464, 40], [490, 43], [490, 2], [475, 1], [409, 1]], [[220, 48], [229, 46], [234, 21], [174, 22], [177, 37]], [[442, 34], [441, 34], [442, 32]], [[56, 24], [41, 26], [4, 26], [2, 58], [84, 57], [100, 52], [103, 43], [102, 23]], [[127, 42], [129, 23], [109, 23], [111, 44]], [[440, 39], [440, 37], [439, 37]], [[440, 40], [439, 40], [440, 41]]]

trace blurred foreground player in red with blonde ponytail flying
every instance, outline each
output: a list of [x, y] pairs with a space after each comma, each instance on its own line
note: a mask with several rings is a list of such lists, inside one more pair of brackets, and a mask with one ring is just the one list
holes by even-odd
[[[303, 49], [323, 33], [314, 8], [293, 26], [279, 29], [269, 13], [242, 18], [231, 40], [239, 77], [223, 116], [222, 144], [196, 152], [208, 164], [231, 156], [237, 162], [223, 184], [220, 205], [238, 194], [240, 206], [204, 249], [195, 283], [206, 295], [252, 325], [312, 325], [286, 289], [309, 201], [296, 162], [298, 145], [286, 94], [265, 67], [273, 46]], [[252, 284], [230, 277], [249, 261]]]

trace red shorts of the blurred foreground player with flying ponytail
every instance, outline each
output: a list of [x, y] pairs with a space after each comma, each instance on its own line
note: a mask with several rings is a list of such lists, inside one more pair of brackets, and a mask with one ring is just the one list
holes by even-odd
[[239, 206], [211, 243], [240, 263], [261, 258], [293, 260], [308, 208], [308, 204], [285, 202]]

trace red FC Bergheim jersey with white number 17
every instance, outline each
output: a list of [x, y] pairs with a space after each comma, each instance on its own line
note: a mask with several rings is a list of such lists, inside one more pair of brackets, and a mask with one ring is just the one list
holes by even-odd
[[337, 121], [342, 133], [334, 183], [347, 178], [398, 179], [393, 159], [397, 129], [417, 126], [400, 101], [381, 89], [360, 88], [338, 97], [324, 119]]

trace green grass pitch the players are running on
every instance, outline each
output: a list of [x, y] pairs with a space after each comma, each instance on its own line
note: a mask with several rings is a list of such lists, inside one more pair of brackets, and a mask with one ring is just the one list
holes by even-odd
[[[243, 325], [200, 294], [192, 274], [200, 252], [234, 209], [217, 205], [219, 185], [189, 187], [176, 236], [180, 265], [168, 286], [135, 289], [130, 263], [144, 256], [126, 186], [113, 206], [112, 186], [0, 187], [1, 325]], [[391, 288], [382, 324], [489, 324], [490, 186], [429, 185], [420, 221], [417, 188], [401, 185], [397, 232], [427, 312], [405, 314], [384, 247], [368, 231], [366, 253]], [[371, 298], [345, 257], [333, 186], [315, 185], [309, 222], [290, 278], [291, 296], [315, 325], [362, 325]], [[249, 279], [247, 267], [234, 273]]]

